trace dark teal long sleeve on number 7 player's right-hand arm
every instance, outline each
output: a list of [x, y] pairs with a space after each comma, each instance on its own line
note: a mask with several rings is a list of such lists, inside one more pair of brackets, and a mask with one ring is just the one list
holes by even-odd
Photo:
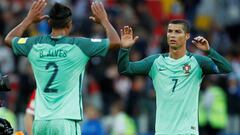
[[202, 68], [203, 74], [221, 74], [232, 71], [231, 64], [215, 50], [210, 49], [207, 53], [208, 57], [194, 55]]

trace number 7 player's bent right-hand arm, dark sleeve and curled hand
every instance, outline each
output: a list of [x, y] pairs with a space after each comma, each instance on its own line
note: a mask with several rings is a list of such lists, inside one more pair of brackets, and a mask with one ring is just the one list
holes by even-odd
[[[214, 49], [209, 47], [208, 41], [203, 37], [196, 37], [192, 41], [200, 50], [208, 54], [207, 57], [201, 57], [200, 65], [205, 74], [230, 73], [232, 71], [231, 64]], [[210, 58], [210, 59], [209, 59]]]

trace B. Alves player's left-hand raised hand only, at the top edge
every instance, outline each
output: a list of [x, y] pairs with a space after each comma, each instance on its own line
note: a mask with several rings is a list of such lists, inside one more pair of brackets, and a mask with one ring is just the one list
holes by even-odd
[[33, 23], [38, 23], [43, 19], [47, 19], [47, 15], [42, 15], [47, 3], [45, 0], [36, 0], [33, 2], [31, 9], [28, 11], [27, 19]]

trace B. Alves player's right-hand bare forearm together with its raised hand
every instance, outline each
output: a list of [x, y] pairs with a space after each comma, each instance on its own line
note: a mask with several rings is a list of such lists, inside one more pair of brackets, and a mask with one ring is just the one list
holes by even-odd
[[120, 38], [118, 36], [118, 33], [113, 28], [111, 23], [108, 20], [107, 13], [104, 9], [104, 6], [102, 2], [92, 2], [91, 5], [93, 16], [89, 17], [91, 20], [93, 20], [96, 23], [101, 23], [107, 33], [107, 37], [110, 41], [109, 48], [117, 48], [120, 46]]

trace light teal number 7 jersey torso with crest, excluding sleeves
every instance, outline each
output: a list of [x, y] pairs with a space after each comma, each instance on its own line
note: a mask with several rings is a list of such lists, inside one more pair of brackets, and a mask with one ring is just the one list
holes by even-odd
[[202, 69], [195, 57], [161, 55], [149, 72], [156, 91], [156, 133], [198, 134], [198, 94]]

